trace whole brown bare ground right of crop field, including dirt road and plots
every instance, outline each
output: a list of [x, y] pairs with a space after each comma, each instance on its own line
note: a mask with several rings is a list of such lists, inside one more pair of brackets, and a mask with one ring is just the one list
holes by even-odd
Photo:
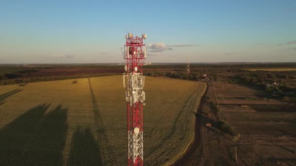
[[[263, 100], [265, 97], [265, 93], [256, 87], [238, 85], [226, 79], [208, 84], [196, 115], [195, 141], [175, 165], [295, 166], [296, 106], [282, 101], [267, 102]], [[237, 143], [217, 128], [219, 114], [213, 105], [216, 98], [227, 103], [219, 103], [218, 109], [227, 123], [240, 133]], [[211, 126], [206, 126], [207, 123]]]

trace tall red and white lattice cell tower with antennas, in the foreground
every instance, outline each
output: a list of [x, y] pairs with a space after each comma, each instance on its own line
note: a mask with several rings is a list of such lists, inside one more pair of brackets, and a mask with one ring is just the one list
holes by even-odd
[[123, 56], [126, 60], [126, 73], [123, 75], [123, 86], [126, 87], [128, 114], [128, 163], [129, 166], [143, 166], [143, 106], [145, 105], [143, 63], [147, 55], [147, 47], [143, 40], [147, 35], [144, 33], [142, 37], [134, 37], [129, 33], [125, 38]]

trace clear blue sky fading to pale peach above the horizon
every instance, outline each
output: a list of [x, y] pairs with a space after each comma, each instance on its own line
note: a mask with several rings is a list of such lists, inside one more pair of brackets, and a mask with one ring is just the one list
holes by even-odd
[[[296, 62], [296, 0], [1, 0], [0, 63]], [[177, 47], [178, 46], [178, 47]]]

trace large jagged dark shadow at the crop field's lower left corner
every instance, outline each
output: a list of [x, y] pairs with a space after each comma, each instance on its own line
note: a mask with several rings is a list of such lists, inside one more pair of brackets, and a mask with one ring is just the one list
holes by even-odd
[[0, 131], [0, 165], [62, 165], [67, 109], [40, 104]]

